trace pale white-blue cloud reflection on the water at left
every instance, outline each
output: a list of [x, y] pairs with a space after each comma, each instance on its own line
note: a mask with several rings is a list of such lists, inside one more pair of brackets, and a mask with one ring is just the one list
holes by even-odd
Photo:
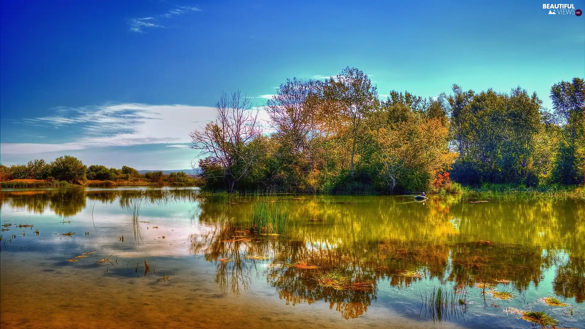
[[[49, 208], [45, 209], [44, 214], [31, 216], [28, 209], [11, 207], [9, 204], [0, 210], [0, 217], [15, 223], [13, 226], [18, 225], [20, 221], [22, 223], [26, 221], [28, 224], [35, 225], [34, 229], [40, 229], [40, 237], [36, 237], [33, 231], [26, 230], [25, 237], [19, 237], [9, 243], [8, 248], [15, 251], [41, 248], [44, 251], [59, 252], [63, 255], [73, 255], [77, 251], [96, 251], [95, 255], [104, 256], [104, 258], [112, 252], [115, 252], [113, 258], [116, 256], [121, 258], [181, 257], [190, 255], [189, 236], [198, 235], [200, 232], [198, 225], [191, 221], [187, 208], [191, 206], [169, 204], [164, 210], [169, 211], [171, 216], [162, 217], [148, 215], [149, 212], [161, 211], [157, 205], [144, 207], [139, 221], [148, 221], [148, 223], [139, 223], [142, 242], [135, 241], [133, 237], [132, 214], [121, 212], [117, 204], [96, 204], [95, 229], [91, 218], [91, 207], [83, 209], [75, 217], [67, 218], [67, 221], [71, 220], [71, 224], [62, 224], [63, 219], [51, 214]], [[152, 228], [153, 226], [158, 228]], [[74, 231], [75, 235], [73, 237], [61, 235], [69, 231]], [[22, 234], [22, 231], [15, 229], [5, 233], [8, 232]], [[90, 234], [85, 235], [85, 232]], [[124, 242], [120, 241], [122, 236]]]

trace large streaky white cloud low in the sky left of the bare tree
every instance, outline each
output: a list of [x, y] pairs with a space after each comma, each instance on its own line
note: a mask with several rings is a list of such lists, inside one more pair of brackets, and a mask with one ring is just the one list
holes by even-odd
[[[215, 119], [216, 113], [212, 107], [188, 105], [119, 104], [60, 108], [55, 115], [35, 120], [57, 128], [81, 126], [81, 138], [65, 143], [0, 143], [0, 153], [31, 154], [104, 146], [189, 143], [189, 133]], [[194, 124], [195, 121], [198, 123]]]

